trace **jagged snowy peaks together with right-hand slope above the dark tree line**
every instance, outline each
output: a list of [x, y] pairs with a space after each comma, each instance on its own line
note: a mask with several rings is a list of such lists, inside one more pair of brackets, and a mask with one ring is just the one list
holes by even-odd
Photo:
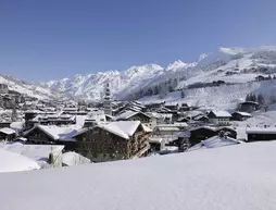
[[[269, 67], [260, 72], [260, 67]], [[72, 78], [50, 81], [42, 84], [65, 94], [85, 99], [101, 99], [103, 85], [109, 82], [113, 96], [123, 98], [139, 90], [159, 85], [170, 78], [177, 78], [178, 89], [195, 83], [212, 83], [223, 79], [228, 83], [243, 83], [254, 79], [260, 73], [274, 73], [276, 47], [255, 49], [219, 48], [216, 52], [201, 54], [198, 61], [185, 63], [180, 60], [166, 67], [158, 64], [131, 66], [125, 71], [98, 72], [75, 75]], [[227, 73], [228, 72], [228, 73]], [[276, 73], [276, 71], [275, 71]]]

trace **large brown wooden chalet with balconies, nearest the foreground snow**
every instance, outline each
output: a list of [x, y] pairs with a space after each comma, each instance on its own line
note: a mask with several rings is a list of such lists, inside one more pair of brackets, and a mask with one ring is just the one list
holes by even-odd
[[79, 153], [92, 162], [104, 162], [147, 155], [149, 136], [139, 121], [117, 121], [84, 128], [74, 138]]

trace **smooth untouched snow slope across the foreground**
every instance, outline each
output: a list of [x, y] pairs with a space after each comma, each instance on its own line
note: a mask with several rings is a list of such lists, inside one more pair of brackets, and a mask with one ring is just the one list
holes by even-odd
[[0, 174], [1, 210], [273, 210], [275, 150], [276, 141], [252, 143]]

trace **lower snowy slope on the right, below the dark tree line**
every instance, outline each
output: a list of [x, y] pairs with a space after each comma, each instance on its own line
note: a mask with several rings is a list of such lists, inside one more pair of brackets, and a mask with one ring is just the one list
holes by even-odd
[[151, 102], [178, 102], [190, 106], [199, 106], [209, 109], [234, 110], [238, 102], [246, 100], [249, 92], [263, 94], [265, 97], [276, 96], [276, 81], [262, 83], [251, 82], [244, 84], [223, 85], [218, 87], [192, 88], [184, 91], [170, 92], [164, 98], [159, 96], [143, 97], [139, 101], [142, 103]]

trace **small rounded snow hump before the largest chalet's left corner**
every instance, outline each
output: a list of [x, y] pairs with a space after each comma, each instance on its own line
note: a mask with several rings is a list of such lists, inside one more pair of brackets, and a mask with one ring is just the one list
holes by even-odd
[[67, 166], [90, 163], [90, 162], [91, 161], [88, 158], [86, 158], [75, 151], [67, 151], [62, 155], [62, 163]]

